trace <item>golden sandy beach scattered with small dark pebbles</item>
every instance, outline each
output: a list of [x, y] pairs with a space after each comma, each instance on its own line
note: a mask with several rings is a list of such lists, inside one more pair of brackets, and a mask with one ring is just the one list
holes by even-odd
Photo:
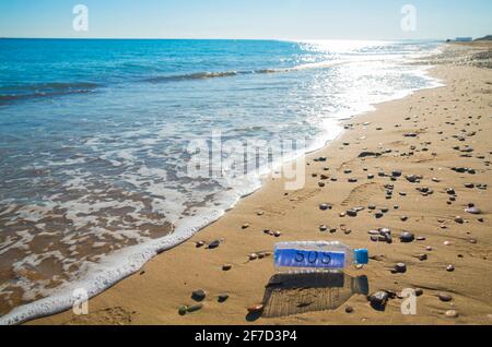
[[[473, 65], [488, 49], [448, 45], [430, 60], [445, 86], [345, 121], [339, 139], [306, 156], [303, 189], [286, 191], [268, 177], [218, 222], [91, 299], [87, 315], [67, 311], [30, 324], [492, 324], [492, 70]], [[402, 232], [413, 234], [410, 242]], [[366, 276], [368, 294], [388, 295], [385, 310], [339, 290], [332, 309], [319, 311], [316, 290], [296, 301], [303, 288], [291, 288], [292, 302], [273, 306], [292, 303], [298, 313], [248, 313], [256, 304], [276, 309], [263, 302], [276, 274], [271, 252], [296, 240], [367, 248], [370, 263], [348, 268], [345, 282]], [[401, 313], [407, 288], [418, 289], [417, 314]], [[201, 306], [180, 315], [181, 306], [199, 304], [191, 296], [200, 289]]]

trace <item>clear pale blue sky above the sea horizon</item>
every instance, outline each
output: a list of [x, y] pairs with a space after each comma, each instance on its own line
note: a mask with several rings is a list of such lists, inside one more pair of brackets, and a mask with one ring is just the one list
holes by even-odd
[[[72, 8], [89, 8], [89, 32]], [[403, 32], [403, 4], [417, 31]], [[492, 34], [492, 0], [1, 0], [1, 37], [448, 38]]]

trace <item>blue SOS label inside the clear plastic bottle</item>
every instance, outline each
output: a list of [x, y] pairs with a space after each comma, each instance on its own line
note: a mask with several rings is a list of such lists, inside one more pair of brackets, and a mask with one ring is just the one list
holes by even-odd
[[307, 251], [295, 249], [276, 250], [276, 265], [278, 267], [313, 267], [313, 268], [344, 268], [344, 252]]

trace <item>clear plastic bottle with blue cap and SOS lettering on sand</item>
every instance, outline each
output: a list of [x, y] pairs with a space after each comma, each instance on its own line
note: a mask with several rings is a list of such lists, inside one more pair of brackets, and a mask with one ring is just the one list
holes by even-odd
[[367, 263], [366, 249], [352, 250], [339, 241], [280, 242], [274, 249], [277, 272], [342, 271]]

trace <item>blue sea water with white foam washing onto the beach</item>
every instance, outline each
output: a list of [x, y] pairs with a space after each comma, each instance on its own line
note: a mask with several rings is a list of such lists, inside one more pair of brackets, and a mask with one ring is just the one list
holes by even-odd
[[261, 169], [190, 177], [190, 142], [319, 147], [340, 119], [437, 85], [410, 62], [438, 46], [0, 39], [3, 321], [104, 290], [260, 186]]

